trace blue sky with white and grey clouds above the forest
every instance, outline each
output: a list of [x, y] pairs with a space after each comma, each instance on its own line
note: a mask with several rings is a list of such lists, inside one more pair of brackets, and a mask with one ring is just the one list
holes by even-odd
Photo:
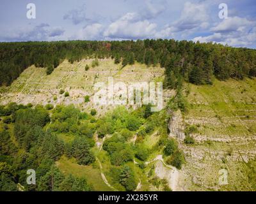
[[[29, 3], [35, 4], [35, 18], [28, 18]], [[221, 3], [227, 5], [225, 18]], [[256, 48], [256, 1], [0, 1], [0, 41], [147, 38]]]

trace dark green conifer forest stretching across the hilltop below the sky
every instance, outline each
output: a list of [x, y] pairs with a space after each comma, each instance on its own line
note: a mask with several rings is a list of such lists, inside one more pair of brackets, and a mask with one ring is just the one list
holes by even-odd
[[115, 58], [115, 63], [166, 68], [166, 86], [175, 87], [179, 78], [193, 84], [256, 76], [256, 50], [212, 43], [175, 40], [54, 41], [0, 43], [0, 85], [10, 85], [32, 64], [47, 67], [47, 74], [64, 59], [71, 63], [85, 57]]

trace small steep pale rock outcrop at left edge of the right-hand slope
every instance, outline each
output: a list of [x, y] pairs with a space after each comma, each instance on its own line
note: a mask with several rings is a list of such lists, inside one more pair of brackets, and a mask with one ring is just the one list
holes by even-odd
[[168, 129], [170, 130], [169, 136], [184, 140], [184, 122], [180, 110], [177, 112], [170, 112], [170, 114], [172, 117], [170, 117], [168, 124]]

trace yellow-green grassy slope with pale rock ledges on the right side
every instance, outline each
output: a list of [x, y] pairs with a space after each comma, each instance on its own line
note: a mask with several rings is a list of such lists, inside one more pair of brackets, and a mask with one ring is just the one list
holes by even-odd
[[[256, 80], [187, 86], [191, 106], [184, 119], [199, 126], [196, 144], [184, 145], [188, 188], [252, 190], [246, 163], [256, 155]], [[220, 186], [218, 171], [223, 168], [228, 170], [228, 185]]]

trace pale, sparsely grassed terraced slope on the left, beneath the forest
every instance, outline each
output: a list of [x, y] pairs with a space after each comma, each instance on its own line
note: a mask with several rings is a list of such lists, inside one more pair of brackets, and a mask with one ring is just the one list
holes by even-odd
[[[164, 68], [147, 67], [136, 62], [123, 68], [122, 64], [115, 64], [111, 59], [100, 59], [99, 66], [92, 68], [93, 59], [83, 59], [70, 64], [64, 61], [54, 69], [51, 75], [45, 73], [45, 68], [31, 66], [15, 80], [10, 87], [1, 87], [0, 104], [10, 102], [33, 105], [74, 104], [81, 110], [97, 109], [100, 113], [113, 106], [98, 106], [93, 103], [93, 85], [97, 82], [106, 82], [108, 77], [113, 77], [116, 82], [124, 82], [129, 85], [132, 82], [160, 82], [164, 79]], [[90, 68], [86, 71], [85, 66]], [[60, 94], [60, 90], [67, 91], [70, 96]], [[90, 102], [84, 103], [84, 96], [90, 96]], [[172, 92], [164, 92], [164, 102], [172, 95]], [[100, 115], [100, 114], [99, 114]]]

